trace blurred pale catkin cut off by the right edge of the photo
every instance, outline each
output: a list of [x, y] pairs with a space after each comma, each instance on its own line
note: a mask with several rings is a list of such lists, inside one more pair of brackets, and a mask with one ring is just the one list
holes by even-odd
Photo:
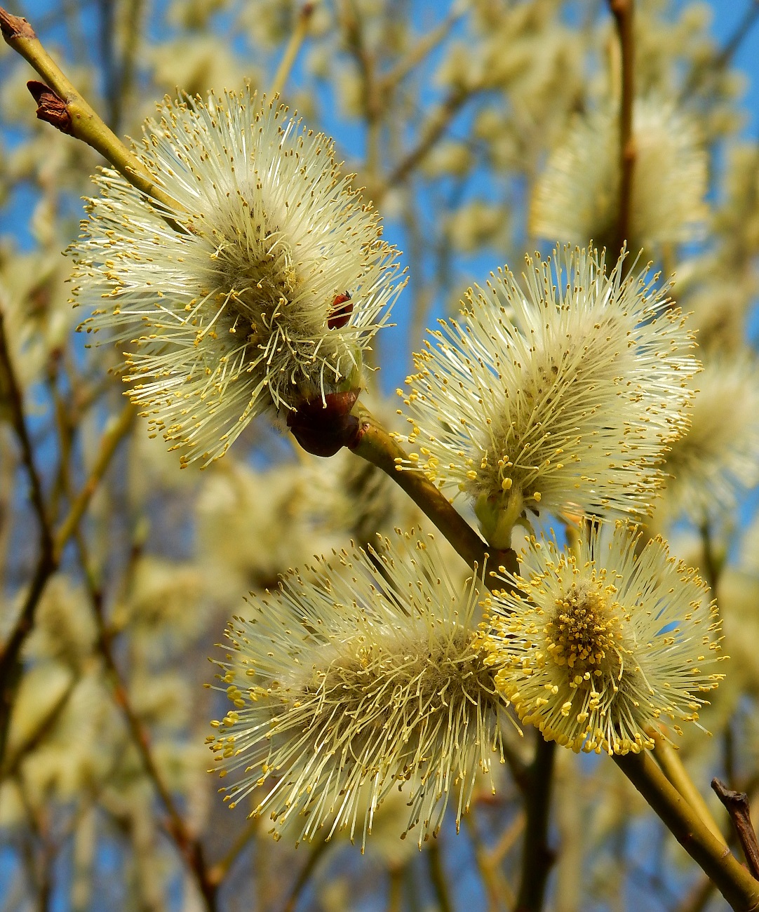
[[759, 482], [759, 372], [746, 357], [716, 358], [695, 385], [691, 427], [667, 454], [661, 508], [701, 524]]

